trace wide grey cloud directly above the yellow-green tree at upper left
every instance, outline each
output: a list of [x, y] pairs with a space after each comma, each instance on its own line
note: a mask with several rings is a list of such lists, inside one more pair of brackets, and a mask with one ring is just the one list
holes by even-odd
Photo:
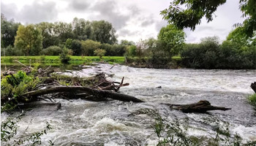
[[24, 5], [17, 15], [18, 20], [23, 23], [40, 23], [55, 20], [57, 17], [58, 10], [53, 1], [44, 3], [34, 1], [32, 4]]

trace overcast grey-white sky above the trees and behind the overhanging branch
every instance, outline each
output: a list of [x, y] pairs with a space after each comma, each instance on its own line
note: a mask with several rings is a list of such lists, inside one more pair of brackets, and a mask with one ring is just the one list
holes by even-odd
[[[64, 21], [73, 18], [86, 20], [108, 20], [116, 28], [118, 40], [157, 38], [159, 30], [167, 25], [159, 12], [166, 9], [171, 0], [1, 0], [1, 13], [10, 20], [21, 23], [42, 21]], [[221, 40], [233, 29], [234, 23], [241, 23], [239, 0], [227, 0], [219, 7], [213, 21], [202, 20], [195, 31], [185, 29], [187, 42], [200, 42], [203, 37], [218, 36]]]

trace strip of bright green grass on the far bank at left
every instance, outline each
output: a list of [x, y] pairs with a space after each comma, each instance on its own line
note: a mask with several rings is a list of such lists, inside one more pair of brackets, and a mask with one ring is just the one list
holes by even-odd
[[[59, 64], [61, 63], [59, 55], [39, 55], [39, 56], [1, 56], [1, 63], [12, 63], [15, 60], [21, 63], [48, 63], [48, 64]], [[83, 64], [91, 62], [101, 61], [98, 56], [71, 56], [70, 64]], [[108, 62], [110, 64], [123, 64], [124, 57], [122, 56], [104, 56], [102, 61]]]

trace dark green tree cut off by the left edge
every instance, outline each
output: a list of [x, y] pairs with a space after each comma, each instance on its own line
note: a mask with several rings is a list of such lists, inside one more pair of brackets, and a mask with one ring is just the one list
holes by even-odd
[[20, 23], [15, 23], [14, 20], [8, 21], [1, 14], [1, 47], [14, 46], [16, 31], [19, 25]]

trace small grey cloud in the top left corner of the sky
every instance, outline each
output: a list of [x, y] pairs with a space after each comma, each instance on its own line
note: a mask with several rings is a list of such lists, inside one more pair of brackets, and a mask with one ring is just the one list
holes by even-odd
[[1, 1], [1, 13], [4, 14], [4, 17], [9, 19], [16, 18], [17, 15], [17, 6], [16, 4], [4, 4]]

